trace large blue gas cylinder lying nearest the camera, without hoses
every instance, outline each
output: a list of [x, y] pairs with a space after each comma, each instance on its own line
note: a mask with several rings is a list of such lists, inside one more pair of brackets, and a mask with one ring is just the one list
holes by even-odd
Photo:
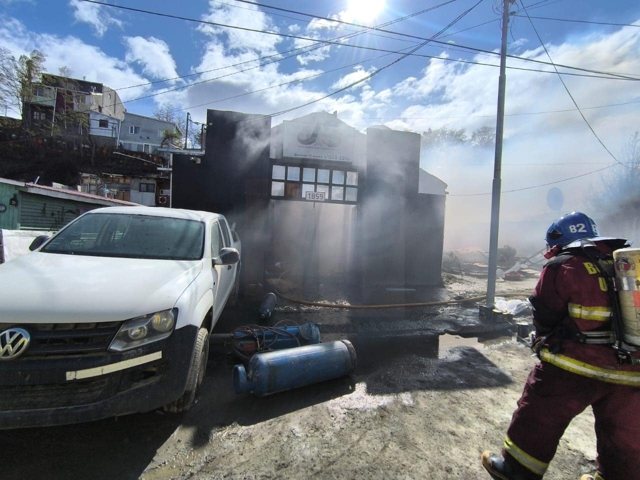
[[236, 365], [236, 394], [257, 397], [331, 380], [353, 372], [356, 351], [349, 340], [257, 353], [249, 364]]

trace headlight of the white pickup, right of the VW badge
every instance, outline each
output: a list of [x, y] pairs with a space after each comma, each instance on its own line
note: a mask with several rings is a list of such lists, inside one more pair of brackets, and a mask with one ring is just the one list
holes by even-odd
[[166, 339], [173, 332], [177, 308], [132, 318], [122, 324], [109, 351], [125, 351]]

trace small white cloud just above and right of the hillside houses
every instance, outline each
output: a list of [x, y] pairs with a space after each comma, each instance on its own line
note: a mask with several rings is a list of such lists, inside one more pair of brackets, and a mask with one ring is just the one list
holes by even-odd
[[[178, 72], [175, 69], [175, 61], [169, 52], [169, 45], [166, 42], [153, 36], [149, 38], [127, 36], [124, 40], [127, 45], [125, 60], [129, 63], [139, 63], [142, 66], [143, 73], [156, 79], [175, 78], [178, 76]], [[172, 83], [175, 83], [175, 81]]]

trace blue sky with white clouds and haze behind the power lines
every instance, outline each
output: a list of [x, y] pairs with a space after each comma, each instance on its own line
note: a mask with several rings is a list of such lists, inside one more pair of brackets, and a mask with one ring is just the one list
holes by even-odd
[[[340, 119], [360, 130], [380, 124], [417, 132], [446, 126], [464, 128], [470, 135], [479, 127], [495, 126], [499, 74], [495, 53], [500, 48], [500, 21], [492, 0], [454, 0], [389, 24], [386, 29], [406, 35], [431, 38], [440, 34], [441, 43], [426, 44], [405, 58], [385, 51], [410, 49], [422, 40], [319, 17], [378, 26], [446, 0], [264, 1], [311, 16], [237, 0], [108, 2], [280, 34], [268, 35], [82, 0], [0, 0], [0, 47], [15, 56], [38, 49], [47, 54], [47, 71], [55, 73], [65, 66], [77, 78], [116, 88], [127, 111], [141, 115], [152, 115], [159, 105], [170, 102], [177, 115], [189, 112], [191, 118], [203, 122], [207, 108], [268, 114], [326, 97], [274, 116], [273, 125], [312, 111], [337, 111]], [[548, 62], [525, 16], [527, 6], [532, 17], [635, 25], [531, 19], [554, 63], [640, 79], [640, 3], [516, 2], [511, 7], [516, 14], [510, 20], [508, 53]], [[350, 38], [344, 38], [346, 35]], [[336, 44], [316, 45], [292, 36]], [[314, 50], [300, 49], [308, 45], [314, 45]], [[394, 60], [398, 61], [392, 63]], [[389, 63], [392, 65], [385, 68]], [[547, 191], [553, 186], [563, 191], [563, 211], [586, 209], [602, 175], [622, 167], [589, 172], [620, 161], [623, 146], [640, 130], [640, 83], [610, 76], [563, 76], [610, 155], [575, 110], [552, 67], [515, 58], [509, 58], [507, 64], [546, 72], [507, 70], [501, 219], [515, 225], [524, 217], [523, 212], [527, 218], [543, 221], [557, 217], [546, 202]], [[561, 71], [599, 75], [567, 68]], [[372, 73], [370, 79], [330, 95]], [[136, 100], [148, 95], [153, 96]], [[460, 244], [469, 244], [474, 225], [479, 225], [480, 237], [486, 234], [493, 156], [493, 150], [467, 147], [424, 152], [422, 156], [421, 166], [448, 184], [447, 218], [460, 223], [448, 230], [452, 245], [457, 244], [454, 237], [465, 237]], [[524, 190], [507, 192], [513, 189]], [[592, 212], [596, 220], [598, 214], [604, 212]], [[501, 233], [503, 243], [509, 241], [506, 235]]]

